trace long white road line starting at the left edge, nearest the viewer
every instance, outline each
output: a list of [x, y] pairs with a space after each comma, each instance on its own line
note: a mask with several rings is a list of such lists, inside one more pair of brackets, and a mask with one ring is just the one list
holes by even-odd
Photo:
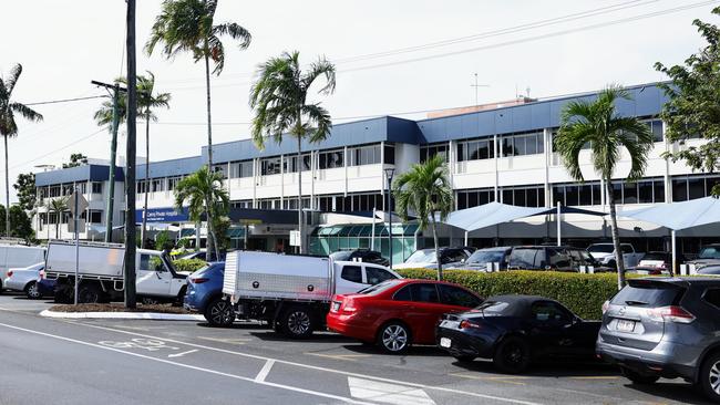
[[299, 388], [299, 387], [295, 387], [295, 386], [290, 386], [290, 385], [282, 385], [282, 384], [268, 383], [268, 382], [257, 382], [257, 381], [255, 381], [255, 378], [248, 378], [248, 377], [244, 377], [241, 375], [229, 374], [229, 373], [224, 373], [224, 372], [216, 371], [216, 370], [204, 368], [204, 367], [198, 367], [198, 366], [194, 366], [194, 365], [177, 363], [177, 362], [173, 362], [173, 361], [169, 361], [169, 360], [157, 359], [157, 357], [153, 357], [153, 356], [148, 356], [148, 355], [144, 355], [144, 354], [126, 352], [124, 350], [107, 347], [107, 346], [103, 346], [103, 345], [100, 345], [100, 344], [84, 342], [84, 341], [80, 341], [80, 340], [72, 339], [72, 338], [65, 338], [65, 336], [60, 336], [60, 335], [50, 334], [50, 333], [45, 333], [45, 332], [34, 331], [32, 329], [13, 326], [13, 325], [9, 325], [7, 323], [0, 323], [0, 326], [14, 329], [17, 331], [32, 333], [32, 334], [37, 334], [37, 335], [41, 335], [41, 336], [52, 338], [52, 339], [56, 339], [56, 340], [61, 340], [61, 341], [65, 341], [65, 342], [82, 344], [82, 345], [85, 345], [85, 346], [107, 350], [107, 351], [111, 351], [111, 352], [122, 353], [122, 354], [126, 354], [126, 355], [131, 355], [131, 356], [135, 356], [135, 357], [140, 357], [140, 359], [152, 360], [154, 362], [171, 364], [171, 365], [175, 365], [175, 366], [183, 367], [183, 368], [189, 368], [189, 370], [195, 370], [195, 371], [199, 371], [199, 372], [204, 372], [204, 373], [222, 375], [222, 376], [229, 377], [229, 378], [247, 381], [247, 382], [250, 382], [250, 383], [254, 383], [254, 384], [260, 384], [260, 385], [266, 385], [266, 386], [280, 388], [280, 390], [287, 390], [287, 391], [294, 391], [294, 392], [308, 394], [308, 395], [320, 396], [320, 397], [329, 398], [329, 399], [342, 401], [342, 402], [350, 403], [350, 404], [372, 405], [372, 404], [367, 403], [367, 402], [357, 401], [357, 399], [348, 398], [348, 397], [344, 397], [344, 396], [326, 394], [326, 393], [321, 393], [321, 392], [318, 392], [318, 391], [305, 390], [305, 388]]

